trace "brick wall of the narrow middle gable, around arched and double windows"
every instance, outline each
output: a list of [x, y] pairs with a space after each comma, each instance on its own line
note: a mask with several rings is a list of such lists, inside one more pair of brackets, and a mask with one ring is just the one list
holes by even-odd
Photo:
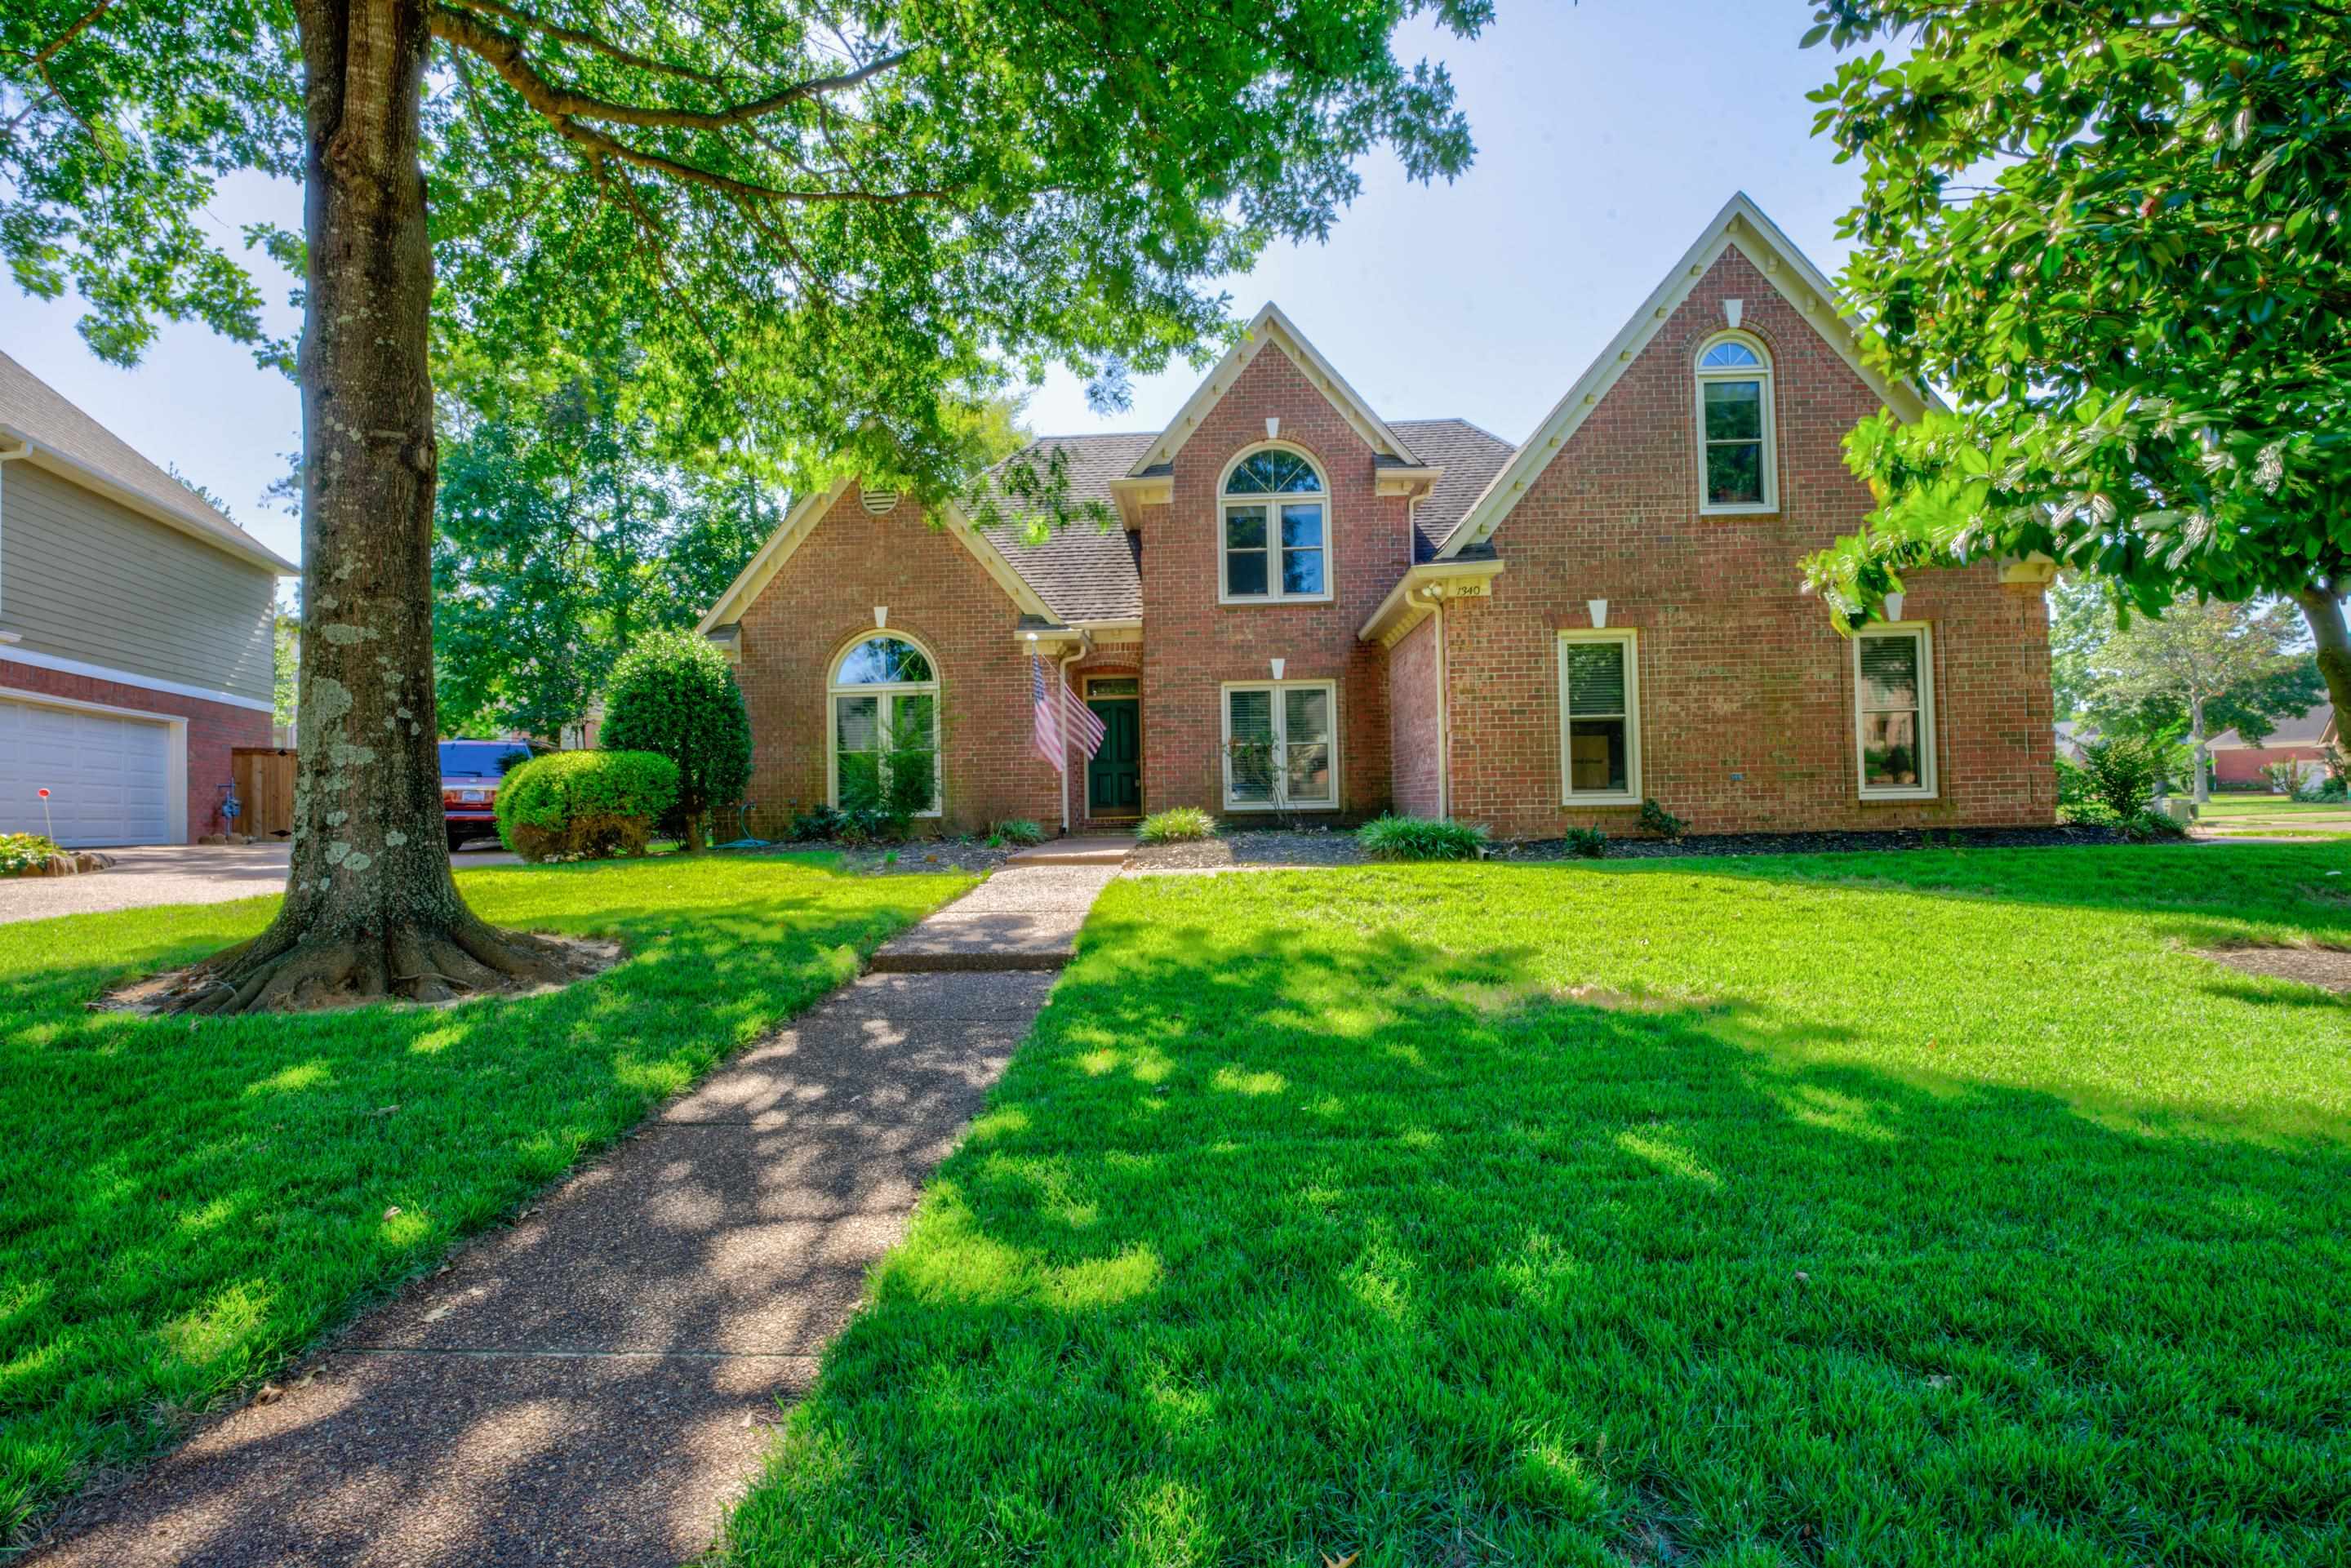
[[[1218, 604], [1223, 527], [1218, 491], [1244, 451], [1305, 451], [1328, 487], [1328, 602]], [[1411, 520], [1399, 496], [1378, 496], [1373, 449], [1277, 346], [1262, 348], [1176, 454], [1173, 503], [1143, 508], [1143, 802], [1225, 804], [1223, 682], [1338, 682], [1340, 811], [1378, 816], [1389, 799], [1387, 668], [1357, 628], [1411, 564]], [[1237, 813], [1260, 816], [1260, 813]]]

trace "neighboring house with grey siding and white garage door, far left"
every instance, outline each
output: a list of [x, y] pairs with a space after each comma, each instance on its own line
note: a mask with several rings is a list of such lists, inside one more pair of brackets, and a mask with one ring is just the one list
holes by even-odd
[[294, 571], [0, 355], [0, 832], [219, 830], [230, 750], [273, 741], [270, 616]]

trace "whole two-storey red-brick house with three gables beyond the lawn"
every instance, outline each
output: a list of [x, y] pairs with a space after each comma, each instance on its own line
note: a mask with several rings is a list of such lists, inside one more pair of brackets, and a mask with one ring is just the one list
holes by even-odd
[[[938, 750], [950, 827], [2048, 823], [2045, 567], [1911, 574], [1853, 639], [1799, 588], [1869, 510], [1841, 440], [1881, 404], [1925, 407], [1744, 195], [1523, 447], [1385, 418], [1267, 306], [1164, 430], [1023, 454], [1110, 529], [1025, 543], [856, 482], [792, 508], [703, 621], [750, 703], [752, 823], [835, 802], [893, 731]], [[1107, 731], [1067, 792], [1032, 654]]]

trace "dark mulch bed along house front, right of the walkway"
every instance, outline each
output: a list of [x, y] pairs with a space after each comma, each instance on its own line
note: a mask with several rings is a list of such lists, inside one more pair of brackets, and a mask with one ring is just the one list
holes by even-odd
[[[1719, 832], [1686, 839], [1608, 839], [1606, 860], [1657, 856], [1820, 856], [1878, 849], [2038, 849], [2043, 844], [2128, 844], [2114, 827], [1954, 827], [1935, 832]], [[1573, 860], [1566, 839], [1491, 844], [1488, 860]], [[1354, 835], [1338, 827], [1244, 827], [1190, 844], [1140, 844], [1136, 870], [1213, 870], [1220, 865], [1373, 865]]]

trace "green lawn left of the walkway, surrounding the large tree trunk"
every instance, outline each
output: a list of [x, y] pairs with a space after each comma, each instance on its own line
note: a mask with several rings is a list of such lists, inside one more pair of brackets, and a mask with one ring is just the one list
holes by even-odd
[[494, 922], [616, 936], [550, 997], [301, 1018], [89, 1013], [275, 898], [0, 924], [0, 1544], [92, 1465], [268, 1375], [858, 969], [969, 877], [820, 860], [465, 872]]

